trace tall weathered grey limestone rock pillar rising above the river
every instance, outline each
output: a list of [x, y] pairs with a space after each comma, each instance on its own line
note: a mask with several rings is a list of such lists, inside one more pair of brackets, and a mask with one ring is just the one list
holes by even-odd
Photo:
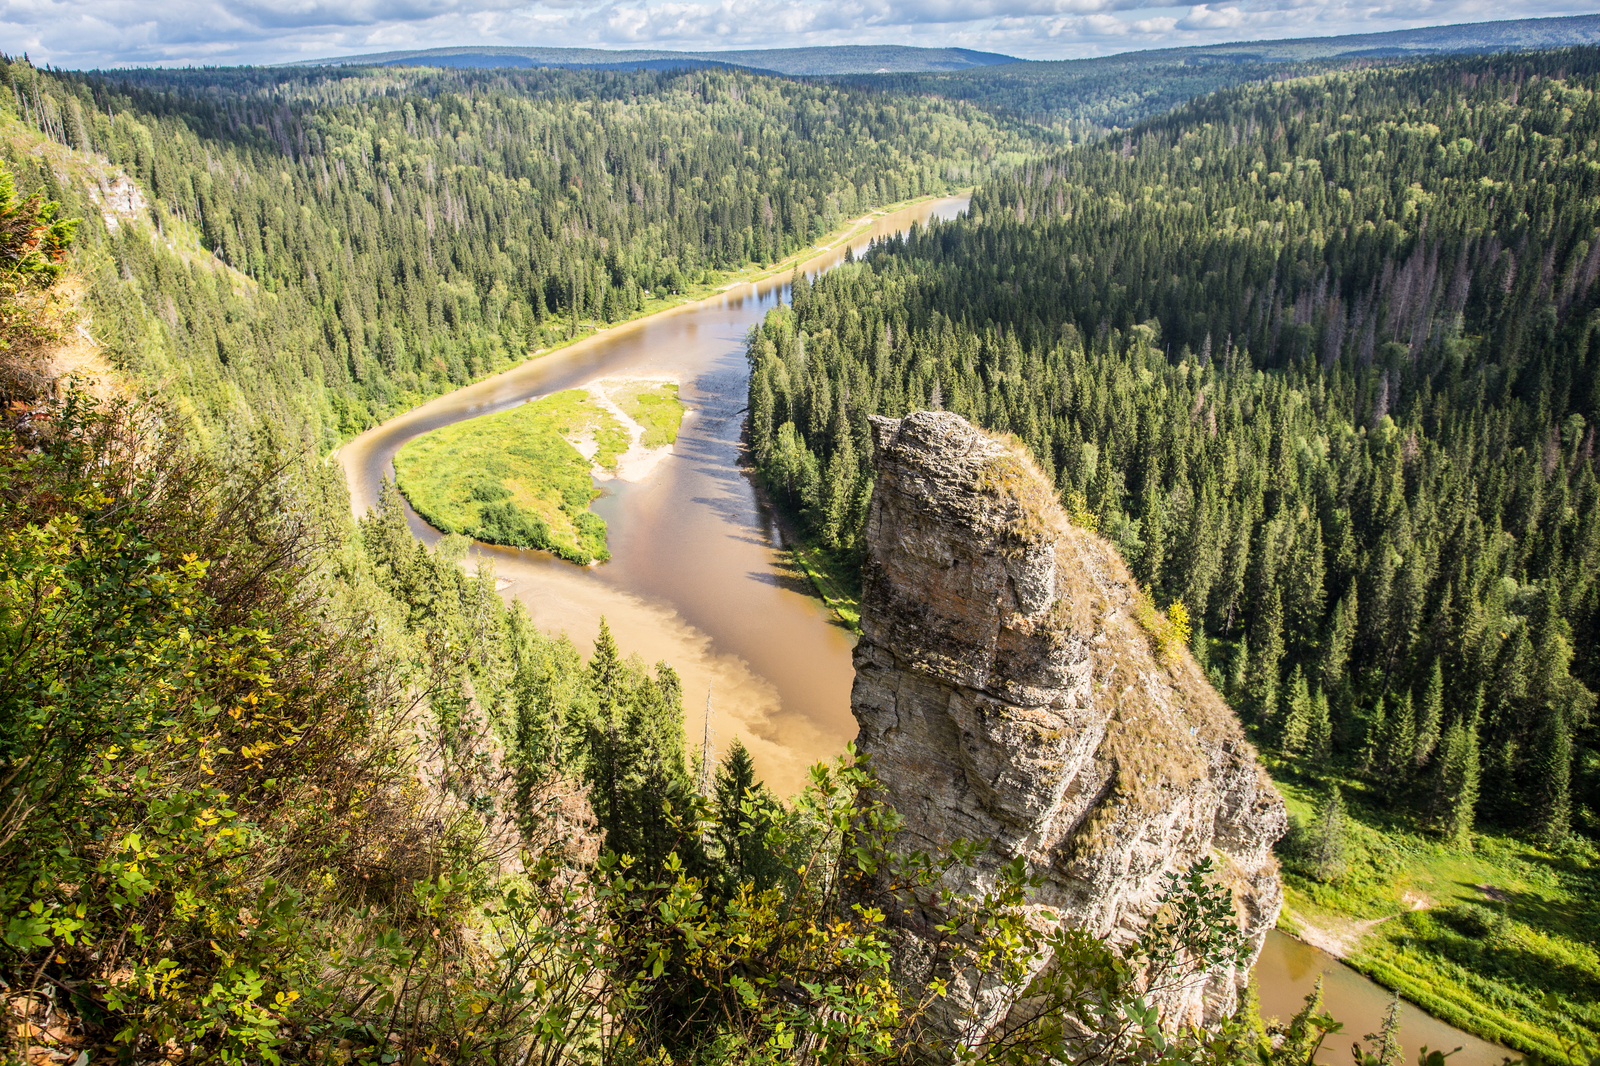
[[[1040, 904], [1115, 943], [1170, 872], [1210, 855], [1253, 964], [1282, 906], [1283, 802], [1187, 651], [1157, 653], [1117, 551], [1066, 520], [1021, 448], [955, 415], [874, 418], [872, 432], [851, 706], [906, 847], [990, 840], [962, 887], [1022, 856], [1045, 877]], [[926, 917], [902, 919], [912, 954]], [[1230, 1012], [1246, 972], [1195, 981], [1170, 1016]], [[952, 1037], [971, 1036], [958, 1010], [982, 1032], [1011, 1008], [955, 991]]]

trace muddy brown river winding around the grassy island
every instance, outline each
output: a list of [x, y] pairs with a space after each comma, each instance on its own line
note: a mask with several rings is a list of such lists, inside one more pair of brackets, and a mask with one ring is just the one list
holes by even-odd
[[[966, 197], [885, 214], [851, 238], [856, 251], [930, 218], [954, 218]], [[805, 262], [826, 271], [845, 243]], [[789, 277], [741, 285], [634, 323], [613, 327], [550, 355], [528, 360], [370, 429], [338, 459], [350, 504], [363, 514], [394, 477], [394, 455], [440, 426], [502, 411], [528, 399], [618, 375], [674, 376], [690, 408], [674, 455], [642, 482], [605, 482], [594, 504], [606, 520], [611, 562], [574, 567], [544, 552], [475, 544], [494, 567], [501, 594], [526, 605], [546, 631], [566, 632], [587, 653], [605, 616], [618, 645], [648, 663], [667, 661], [683, 677], [686, 727], [698, 743], [712, 701], [714, 743], [739, 736], [760, 775], [789, 795], [811, 763], [843, 752], [854, 738], [850, 653], [854, 634], [811, 594], [781, 552], [771, 514], [739, 469], [744, 423], [746, 331], [787, 298]], [[426, 543], [438, 531], [406, 511]], [[1256, 973], [1266, 1015], [1288, 1020], [1318, 973], [1344, 1034], [1320, 1061], [1347, 1061], [1352, 1037], [1373, 1032], [1389, 994], [1331, 956], [1282, 933], [1267, 938]], [[1408, 1061], [1416, 1048], [1462, 1052], [1451, 1066], [1494, 1066], [1504, 1050], [1408, 1008]]]

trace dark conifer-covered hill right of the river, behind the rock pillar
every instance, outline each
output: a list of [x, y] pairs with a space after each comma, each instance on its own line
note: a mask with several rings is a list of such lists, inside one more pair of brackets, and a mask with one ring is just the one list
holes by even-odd
[[1336, 74], [989, 182], [752, 341], [762, 471], [848, 552], [869, 413], [1014, 432], [1274, 744], [1446, 837], [1595, 832], [1597, 90]]

